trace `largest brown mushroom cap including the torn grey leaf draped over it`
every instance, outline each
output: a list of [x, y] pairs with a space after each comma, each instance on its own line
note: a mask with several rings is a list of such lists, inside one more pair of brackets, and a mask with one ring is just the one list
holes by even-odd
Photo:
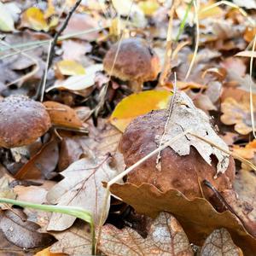
[[[206, 113], [195, 108], [184, 93], [178, 94], [177, 98], [179, 97], [179, 99], [173, 105], [169, 121], [170, 127], [167, 127], [169, 135], [166, 134], [166, 136], [175, 137], [175, 133], [182, 133], [186, 130], [186, 127], [182, 127], [185, 124], [195, 132], [204, 134], [205, 137], [213, 137], [215, 142], [220, 143], [221, 146], [226, 146], [212, 129]], [[169, 110], [167, 109], [156, 110], [131, 121], [119, 143], [119, 150], [124, 155], [126, 166], [132, 166], [159, 147], [168, 114]], [[196, 143], [198, 143], [197, 147]], [[157, 155], [154, 155], [130, 172], [127, 182], [137, 186], [150, 183], [162, 192], [177, 189], [189, 199], [195, 197], [209, 199], [212, 196], [212, 190], [207, 189], [202, 183], [205, 179], [220, 192], [224, 189], [231, 189], [235, 178], [233, 158], [223, 154], [220, 150], [218, 151], [217, 148], [203, 143], [191, 135], [184, 136], [176, 144], [172, 143], [170, 147], [161, 151], [161, 169], [157, 167]], [[176, 146], [178, 149], [174, 150]], [[207, 150], [212, 150], [212, 152], [210, 151], [206, 157], [204, 153]], [[216, 173], [218, 173], [217, 178]]]

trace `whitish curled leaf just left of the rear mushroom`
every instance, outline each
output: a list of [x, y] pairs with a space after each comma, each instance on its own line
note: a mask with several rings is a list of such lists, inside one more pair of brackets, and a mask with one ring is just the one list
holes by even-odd
[[96, 73], [103, 70], [102, 64], [95, 64], [86, 67], [86, 74], [71, 76], [64, 81], [57, 81], [56, 84], [49, 87], [46, 92], [53, 89], [66, 90], [84, 90], [95, 84]]

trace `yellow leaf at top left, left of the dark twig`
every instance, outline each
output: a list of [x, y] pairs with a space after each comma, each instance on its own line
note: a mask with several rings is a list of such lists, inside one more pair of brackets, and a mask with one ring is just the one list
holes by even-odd
[[27, 26], [36, 31], [48, 32], [49, 26], [44, 19], [43, 12], [37, 7], [31, 7], [21, 15], [21, 26]]

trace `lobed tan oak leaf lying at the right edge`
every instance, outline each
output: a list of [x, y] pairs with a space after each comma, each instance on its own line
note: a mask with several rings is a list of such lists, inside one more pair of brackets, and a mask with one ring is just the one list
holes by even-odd
[[[253, 103], [254, 109], [256, 108]], [[221, 121], [225, 125], [235, 125], [235, 130], [240, 134], [248, 134], [253, 131], [250, 113], [250, 102], [243, 98], [241, 102], [229, 97], [221, 104]], [[255, 113], [253, 113], [255, 115]]]

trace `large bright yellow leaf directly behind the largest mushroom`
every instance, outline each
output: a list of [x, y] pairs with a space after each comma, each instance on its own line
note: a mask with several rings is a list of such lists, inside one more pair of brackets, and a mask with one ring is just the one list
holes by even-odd
[[127, 96], [114, 109], [110, 122], [120, 131], [125, 131], [126, 126], [137, 116], [166, 108], [171, 95], [166, 90], [147, 90]]

